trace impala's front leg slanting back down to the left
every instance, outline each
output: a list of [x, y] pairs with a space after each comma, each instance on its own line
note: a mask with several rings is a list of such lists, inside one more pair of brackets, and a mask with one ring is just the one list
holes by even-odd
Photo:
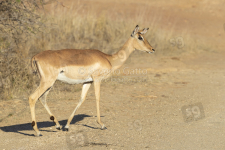
[[74, 117], [74, 114], [76, 113], [77, 109], [81, 106], [81, 104], [84, 102], [86, 96], [87, 96], [87, 92], [89, 90], [89, 88], [91, 87], [91, 83], [85, 83], [83, 84], [83, 87], [82, 87], [82, 93], [81, 93], [81, 99], [79, 101], [79, 103], [77, 104], [77, 107], [74, 109], [73, 113], [70, 115], [68, 121], [67, 121], [67, 124], [65, 126], [65, 130], [69, 130], [69, 125], [70, 125], [70, 122], [72, 121], [73, 117]]

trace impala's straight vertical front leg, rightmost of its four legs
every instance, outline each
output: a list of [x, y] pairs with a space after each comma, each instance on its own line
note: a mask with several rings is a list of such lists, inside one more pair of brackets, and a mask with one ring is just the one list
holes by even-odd
[[101, 80], [97, 79], [94, 81], [94, 87], [95, 87], [95, 96], [96, 96], [96, 106], [97, 106], [97, 117], [98, 117], [98, 124], [101, 125], [101, 129], [107, 129], [105, 125], [101, 122], [100, 118], [100, 109], [99, 109], [99, 101], [100, 101], [100, 85], [101, 85]]

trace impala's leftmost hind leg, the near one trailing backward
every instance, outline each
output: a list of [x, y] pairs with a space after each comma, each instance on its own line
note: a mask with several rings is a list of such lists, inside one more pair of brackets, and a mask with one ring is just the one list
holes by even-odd
[[32, 118], [32, 126], [33, 129], [36, 131], [37, 136], [40, 136], [40, 131], [37, 127], [37, 122], [35, 118], [35, 104], [39, 97], [41, 97], [45, 92], [48, 92], [50, 87], [53, 85], [54, 82], [40, 82], [39, 87], [36, 89], [36, 91], [30, 95], [29, 97], [29, 104], [30, 104], [30, 111], [31, 111], [31, 118]]

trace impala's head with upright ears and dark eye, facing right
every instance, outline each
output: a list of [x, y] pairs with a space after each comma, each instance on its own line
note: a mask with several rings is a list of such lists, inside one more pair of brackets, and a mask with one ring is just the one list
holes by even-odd
[[137, 50], [144, 51], [147, 53], [154, 53], [153, 47], [145, 39], [144, 34], [148, 31], [149, 28], [144, 28], [139, 31], [139, 26], [137, 25], [134, 31], [131, 34], [133, 40], [133, 47]]

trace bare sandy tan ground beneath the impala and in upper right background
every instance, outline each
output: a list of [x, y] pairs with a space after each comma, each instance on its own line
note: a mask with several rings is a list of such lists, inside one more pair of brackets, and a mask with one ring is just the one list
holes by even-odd
[[[83, 2], [87, 7], [93, 3]], [[126, 2], [113, 4], [121, 5], [127, 11], [133, 5], [137, 6], [133, 1], [129, 5]], [[138, 5], [151, 5], [152, 11], [163, 9], [161, 16], [165, 18], [171, 14], [189, 20], [189, 25], [185, 26], [185, 20], [176, 19], [180, 20], [176, 24], [177, 33], [182, 27], [188, 28], [196, 40], [214, 44], [215, 50], [181, 56], [159, 56], [157, 51], [152, 55], [134, 52], [120, 71], [128, 67], [129, 71], [140, 69], [143, 72], [120, 74], [101, 86], [100, 110], [107, 130], [100, 130], [95, 121], [93, 86], [69, 132], [56, 130], [46, 110], [37, 102], [36, 117], [42, 137], [34, 136], [27, 99], [2, 101], [0, 150], [225, 149], [225, 52], [219, 51], [224, 48], [225, 35], [222, 16], [218, 13], [224, 8], [217, 3], [210, 4], [212, 12], [214, 7], [219, 8], [210, 16], [205, 10], [198, 13], [201, 3], [207, 1], [160, 2], [141, 1]], [[104, 6], [105, 2], [98, 0], [98, 4]], [[176, 8], [183, 11], [178, 13]], [[157, 23], [162, 29], [168, 29], [163, 20]], [[64, 126], [78, 103], [80, 91], [65, 92], [58, 99], [53, 98], [55, 92], [57, 89], [50, 92], [48, 104]], [[63, 99], [68, 95], [74, 98]]]

